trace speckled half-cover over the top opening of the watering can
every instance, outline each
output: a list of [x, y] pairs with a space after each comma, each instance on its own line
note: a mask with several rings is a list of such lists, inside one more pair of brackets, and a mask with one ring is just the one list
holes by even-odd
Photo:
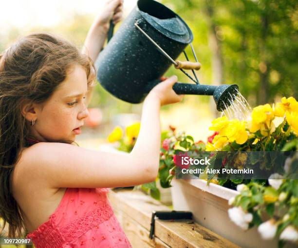
[[191, 30], [177, 14], [173, 18], [159, 19], [143, 11], [140, 13], [152, 27], [166, 37], [184, 44], [189, 44], [193, 40]]

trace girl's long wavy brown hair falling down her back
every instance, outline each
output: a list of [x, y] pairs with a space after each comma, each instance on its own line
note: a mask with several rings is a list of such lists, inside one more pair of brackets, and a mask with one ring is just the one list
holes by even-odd
[[46, 102], [75, 64], [85, 68], [88, 87], [93, 86], [95, 68], [91, 58], [51, 34], [20, 38], [0, 55], [0, 218], [4, 221], [0, 233], [8, 223], [8, 237], [24, 237], [27, 233], [11, 184], [20, 153], [29, 146], [29, 121], [21, 114], [21, 106], [25, 102]]

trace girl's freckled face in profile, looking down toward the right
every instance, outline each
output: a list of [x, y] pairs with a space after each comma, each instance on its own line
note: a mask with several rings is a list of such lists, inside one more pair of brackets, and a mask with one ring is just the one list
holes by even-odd
[[74, 65], [66, 79], [43, 104], [36, 105], [37, 120], [30, 126], [31, 134], [40, 141], [75, 140], [89, 113], [85, 105], [87, 75], [84, 68]]

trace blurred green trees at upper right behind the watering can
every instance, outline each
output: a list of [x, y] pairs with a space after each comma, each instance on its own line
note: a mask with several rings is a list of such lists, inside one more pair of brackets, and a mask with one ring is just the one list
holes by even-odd
[[237, 83], [251, 105], [297, 98], [298, 1], [162, 2], [191, 28], [202, 82]]

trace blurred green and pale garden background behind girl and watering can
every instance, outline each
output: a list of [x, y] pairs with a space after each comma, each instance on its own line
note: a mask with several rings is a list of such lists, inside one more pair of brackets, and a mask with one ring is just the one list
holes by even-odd
[[[193, 46], [202, 64], [197, 73], [201, 83], [236, 83], [251, 107], [273, 103], [282, 96], [297, 99], [297, 0], [160, 2], [180, 15], [192, 30]], [[81, 48], [103, 3], [104, 0], [2, 0], [0, 53], [18, 38], [40, 31], [60, 35]], [[135, 5], [136, 0], [124, 1], [124, 18]], [[190, 47], [186, 52], [194, 60]], [[180, 82], [191, 83], [172, 66], [166, 76], [173, 74]], [[90, 107], [96, 110], [93, 114], [97, 115], [98, 124], [86, 125], [77, 142], [93, 149], [107, 142], [116, 125], [125, 127], [140, 120], [142, 110], [142, 104], [116, 99], [100, 85], [96, 86]], [[211, 134], [208, 126], [219, 114], [212, 97], [186, 95], [183, 102], [162, 107], [162, 129], [172, 125], [196, 140], [206, 140]]]

